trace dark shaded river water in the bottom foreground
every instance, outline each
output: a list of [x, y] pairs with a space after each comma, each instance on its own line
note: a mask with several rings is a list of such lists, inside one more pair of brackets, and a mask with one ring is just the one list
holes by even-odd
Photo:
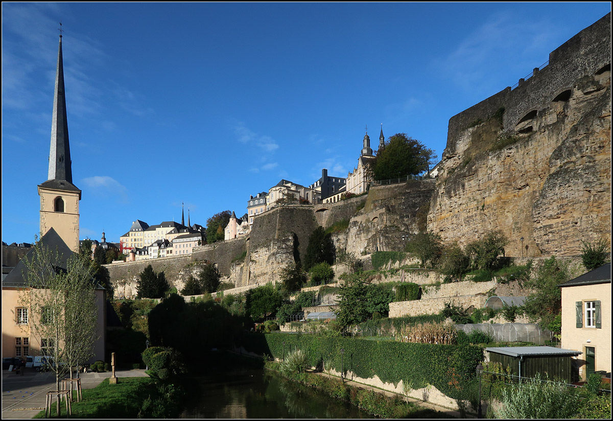
[[351, 404], [256, 368], [194, 378], [180, 418], [372, 418]]

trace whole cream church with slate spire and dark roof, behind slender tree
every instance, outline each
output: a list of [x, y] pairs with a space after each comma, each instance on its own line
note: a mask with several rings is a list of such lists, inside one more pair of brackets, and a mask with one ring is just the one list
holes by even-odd
[[[79, 208], [81, 191], [72, 184], [72, 161], [68, 142], [66, 96], [64, 93], [64, 65], [62, 36], [59, 36], [58, 66], [53, 96], [51, 146], [48, 180], [38, 186], [40, 195], [40, 240], [38, 245], [58, 251], [56, 270], [66, 270], [66, 261], [79, 249]], [[31, 260], [35, 250], [26, 255]], [[23, 259], [2, 279], [2, 357], [44, 355], [52, 339], [42, 338], [32, 330], [31, 308], [21, 303], [27, 285], [28, 268]], [[106, 335], [106, 296], [102, 287], [96, 289], [97, 336], [94, 357], [90, 362], [104, 360]], [[61, 344], [56, 344], [61, 346]]]

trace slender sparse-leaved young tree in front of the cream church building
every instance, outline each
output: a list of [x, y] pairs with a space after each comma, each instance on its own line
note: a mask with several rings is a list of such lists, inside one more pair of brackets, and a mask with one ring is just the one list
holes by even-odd
[[39, 339], [44, 355], [51, 358], [49, 368], [60, 390], [61, 379], [94, 355], [99, 303], [91, 260], [72, 254], [63, 264], [58, 251], [39, 244], [23, 262], [20, 305], [28, 308], [29, 335]]

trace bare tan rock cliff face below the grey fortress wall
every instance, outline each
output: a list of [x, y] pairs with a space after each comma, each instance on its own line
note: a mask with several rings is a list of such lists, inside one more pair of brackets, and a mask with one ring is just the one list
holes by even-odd
[[501, 230], [512, 256], [611, 241], [611, 71], [568, 94], [513, 130], [495, 119], [463, 130], [444, 156], [428, 229], [461, 245]]

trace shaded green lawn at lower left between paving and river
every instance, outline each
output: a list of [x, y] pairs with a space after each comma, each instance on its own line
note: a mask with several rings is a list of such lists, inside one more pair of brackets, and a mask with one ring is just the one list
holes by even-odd
[[[118, 384], [109, 384], [104, 379], [94, 389], [83, 390], [83, 400], [72, 402], [71, 418], [137, 418], [143, 401], [156, 390], [155, 380], [150, 377], [124, 377]], [[74, 393], [74, 392], [73, 392]], [[56, 415], [56, 404], [51, 406], [51, 414]], [[61, 417], [66, 417], [66, 406], [62, 406]], [[40, 411], [34, 418], [44, 418]]]

